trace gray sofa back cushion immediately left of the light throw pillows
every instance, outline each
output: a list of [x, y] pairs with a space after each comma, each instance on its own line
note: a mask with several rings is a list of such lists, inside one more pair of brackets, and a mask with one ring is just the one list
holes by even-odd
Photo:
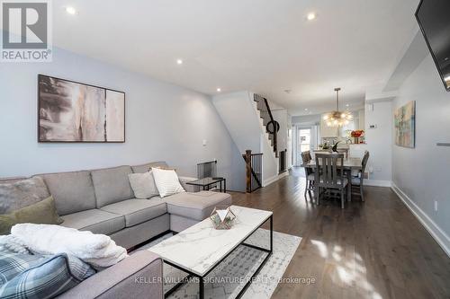
[[130, 173], [132, 173], [130, 166], [91, 171], [97, 207], [134, 198], [133, 189], [131, 189], [128, 179]]

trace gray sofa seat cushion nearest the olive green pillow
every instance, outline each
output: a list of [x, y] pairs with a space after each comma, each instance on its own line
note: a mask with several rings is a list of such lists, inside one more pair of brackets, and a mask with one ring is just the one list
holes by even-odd
[[108, 213], [99, 209], [63, 215], [61, 218], [64, 219], [62, 226], [92, 233], [111, 234], [125, 227], [125, 218], [122, 215]]

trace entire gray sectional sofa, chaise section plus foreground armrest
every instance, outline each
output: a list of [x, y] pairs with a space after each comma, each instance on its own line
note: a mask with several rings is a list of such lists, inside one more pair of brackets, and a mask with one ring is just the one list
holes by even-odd
[[[134, 198], [128, 174], [151, 167], [167, 167], [164, 162], [118, 166], [91, 171], [39, 174], [49, 194], [55, 198], [61, 225], [111, 236], [127, 249], [161, 234], [180, 232], [209, 215], [216, 206], [230, 205], [227, 193], [193, 192], [180, 177], [186, 191], [166, 198]], [[136, 279], [138, 277], [138, 279]], [[147, 277], [139, 283], [139, 277]], [[162, 298], [162, 284], [148, 283], [148, 277], [162, 277], [162, 261], [142, 251], [89, 277], [60, 295], [61, 298]]]

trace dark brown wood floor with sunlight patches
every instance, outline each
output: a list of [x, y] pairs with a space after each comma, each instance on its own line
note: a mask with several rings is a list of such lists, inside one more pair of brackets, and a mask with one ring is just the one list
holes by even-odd
[[274, 230], [302, 237], [273, 298], [450, 298], [450, 259], [389, 188], [368, 187], [365, 202], [342, 210], [305, 200], [298, 171], [233, 203], [274, 212]]

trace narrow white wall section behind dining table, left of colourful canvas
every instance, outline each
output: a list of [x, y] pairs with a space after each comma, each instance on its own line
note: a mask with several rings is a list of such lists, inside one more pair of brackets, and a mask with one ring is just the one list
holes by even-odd
[[[370, 158], [367, 167], [372, 185], [390, 186], [392, 180], [392, 102], [365, 105], [365, 142]], [[369, 128], [376, 125], [376, 128]]]

